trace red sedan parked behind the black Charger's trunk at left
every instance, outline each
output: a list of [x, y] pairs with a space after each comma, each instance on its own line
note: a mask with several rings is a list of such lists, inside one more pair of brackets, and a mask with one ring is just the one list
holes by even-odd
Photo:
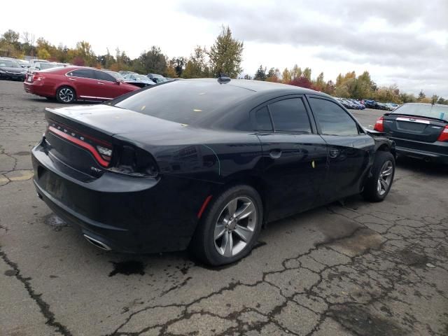
[[80, 66], [28, 73], [23, 85], [26, 92], [57, 99], [59, 103], [76, 100], [104, 102], [139, 90], [139, 87], [117, 80], [109, 73]]

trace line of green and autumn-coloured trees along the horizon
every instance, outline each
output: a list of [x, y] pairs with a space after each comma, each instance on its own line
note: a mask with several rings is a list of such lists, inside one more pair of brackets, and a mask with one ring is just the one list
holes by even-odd
[[[25, 55], [53, 62], [71, 63], [78, 66], [93, 66], [98, 69], [113, 71], [134, 71], [137, 73], [160, 73], [169, 78], [215, 78], [219, 73], [226, 73], [231, 78], [237, 78], [243, 71], [241, 68], [244, 43], [232, 36], [229, 27], [222, 27], [209, 49], [197, 45], [190, 57], [172, 57], [165, 55], [158, 46], [144, 50], [139, 57], [131, 59], [124, 50], [116, 48], [115, 53], [107, 50], [104, 55], [96, 55], [92, 45], [87, 41], [79, 41], [75, 48], [69, 48], [62, 43], [52, 45], [40, 37], [35, 40], [29, 32], [22, 34], [8, 30], [0, 37], [0, 56], [22, 58]], [[426, 97], [423, 90], [416, 96], [401, 92], [397, 85], [379, 87], [370, 77], [368, 71], [356, 76], [355, 71], [343, 75], [339, 73], [336, 81], [325, 81], [323, 72], [315, 78], [311, 77], [311, 69], [302, 69], [295, 64], [291, 68], [279, 71], [277, 68], [260, 67], [253, 76], [246, 74], [244, 79], [266, 80], [285, 83], [312, 90], [325, 92], [335, 97], [353, 99], [374, 99], [378, 102], [425, 102], [433, 104], [448, 104], [448, 99]]]

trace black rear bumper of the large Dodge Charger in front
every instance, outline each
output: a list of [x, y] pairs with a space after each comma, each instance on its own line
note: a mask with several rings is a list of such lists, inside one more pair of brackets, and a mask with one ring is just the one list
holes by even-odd
[[42, 144], [33, 148], [31, 158], [34, 185], [45, 204], [83, 235], [120, 252], [185, 249], [197, 225], [197, 211], [213, 187], [174, 176], [151, 179], [112, 172], [78, 181]]

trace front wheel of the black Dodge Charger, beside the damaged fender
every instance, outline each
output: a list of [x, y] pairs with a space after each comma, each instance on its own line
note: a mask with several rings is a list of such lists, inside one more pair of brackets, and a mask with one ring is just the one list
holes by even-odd
[[372, 176], [365, 182], [363, 197], [370, 202], [383, 201], [393, 183], [395, 158], [392, 153], [378, 151], [372, 167]]

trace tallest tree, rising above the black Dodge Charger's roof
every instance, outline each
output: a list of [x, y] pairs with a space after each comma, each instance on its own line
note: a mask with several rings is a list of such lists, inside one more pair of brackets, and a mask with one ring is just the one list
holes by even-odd
[[243, 71], [241, 68], [243, 49], [243, 42], [232, 37], [229, 27], [223, 27], [209, 51], [211, 75], [216, 77], [219, 73], [225, 73], [231, 78], [237, 78]]

